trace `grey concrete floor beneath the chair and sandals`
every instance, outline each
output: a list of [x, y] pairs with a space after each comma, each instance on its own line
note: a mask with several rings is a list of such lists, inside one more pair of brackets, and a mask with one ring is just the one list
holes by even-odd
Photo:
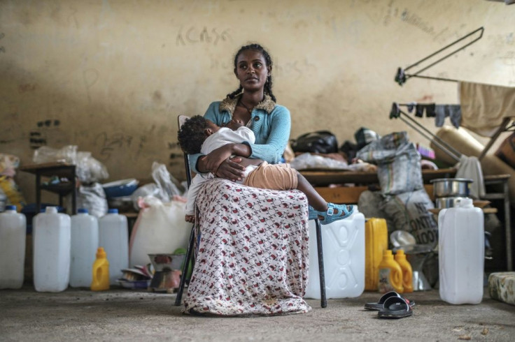
[[[486, 290], [486, 289], [485, 289]], [[0, 291], [0, 341], [514, 341], [515, 306], [485, 291], [479, 305], [451, 305], [437, 290], [407, 296], [414, 315], [400, 320], [365, 311], [377, 292], [309, 299], [302, 315], [206, 318], [183, 315], [175, 295], [139, 290]]]

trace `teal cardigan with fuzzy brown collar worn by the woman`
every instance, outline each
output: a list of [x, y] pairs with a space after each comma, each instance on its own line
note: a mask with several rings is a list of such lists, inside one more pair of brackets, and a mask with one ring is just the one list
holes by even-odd
[[[220, 126], [230, 121], [237, 101], [238, 98], [213, 102], [209, 105], [204, 117]], [[244, 142], [251, 147], [250, 158], [262, 159], [271, 164], [278, 163], [290, 138], [290, 111], [282, 105], [276, 105], [269, 96], [265, 96], [264, 101], [252, 110], [251, 122], [255, 143]], [[200, 173], [197, 170], [197, 161], [200, 156], [202, 154], [190, 155], [190, 167], [195, 173]]]

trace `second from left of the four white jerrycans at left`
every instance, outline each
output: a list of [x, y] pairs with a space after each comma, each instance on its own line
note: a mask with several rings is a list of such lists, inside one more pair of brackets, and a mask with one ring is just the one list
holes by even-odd
[[56, 207], [34, 216], [34, 288], [38, 292], [66, 290], [70, 280], [70, 216]]

